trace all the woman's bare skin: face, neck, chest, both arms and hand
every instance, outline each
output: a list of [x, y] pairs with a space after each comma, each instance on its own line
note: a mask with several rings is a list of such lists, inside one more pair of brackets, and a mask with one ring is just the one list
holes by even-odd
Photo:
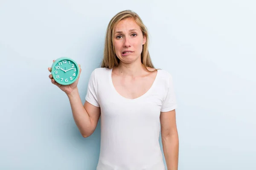
[[[114, 30], [113, 44], [116, 56], [120, 59], [120, 62], [117, 67], [113, 68], [112, 81], [116, 91], [128, 99], [135, 99], [145, 94], [157, 75], [157, 71], [154, 71], [153, 68], [148, 68], [148, 70], [153, 71], [148, 72], [141, 63], [140, 55], [145, 42], [146, 38], [143, 37], [140, 27], [133, 19], [126, 18], [117, 24]], [[123, 55], [122, 52], [125, 50], [132, 52]], [[80, 65], [79, 69], [81, 74]], [[51, 71], [51, 68], [48, 68], [48, 70]], [[74, 120], [82, 136], [90, 136], [96, 129], [99, 121], [100, 108], [91, 105], [87, 101], [82, 105], [77, 89], [79, 79], [71, 85], [60, 85], [52, 79], [51, 74], [49, 78], [52, 84], [58, 86], [67, 94]], [[168, 170], [177, 170], [179, 140], [175, 110], [161, 112], [160, 123], [167, 168]]]

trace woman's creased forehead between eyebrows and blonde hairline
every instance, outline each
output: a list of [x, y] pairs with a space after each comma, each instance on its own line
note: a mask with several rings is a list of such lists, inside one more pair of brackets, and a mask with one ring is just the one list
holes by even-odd
[[125, 31], [129, 29], [140, 29], [140, 26], [135, 22], [133, 18], [125, 18], [117, 23], [114, 31]]

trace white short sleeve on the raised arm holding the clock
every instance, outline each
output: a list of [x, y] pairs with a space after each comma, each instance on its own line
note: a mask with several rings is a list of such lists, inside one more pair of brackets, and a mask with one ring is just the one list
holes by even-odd
[[99, 102], [98, 102], [98, 97], [97, 97], [96, 69], [90, 75], [85, 100], [87, 102], [89, 102], [90, 104], [92, 104], [96, 107], [99, 107]]

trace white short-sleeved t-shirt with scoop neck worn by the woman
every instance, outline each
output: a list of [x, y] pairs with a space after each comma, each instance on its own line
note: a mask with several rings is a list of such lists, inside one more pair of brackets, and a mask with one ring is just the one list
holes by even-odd
[[158, 70], [151, 88], [136, 99], [115, 90], [112, 69], [96, 68], [87, 102], [101, 108], [101, 144], [96, 170], [165, 170], [160, 150], [160, 111], [177, 108], [172, 76]]

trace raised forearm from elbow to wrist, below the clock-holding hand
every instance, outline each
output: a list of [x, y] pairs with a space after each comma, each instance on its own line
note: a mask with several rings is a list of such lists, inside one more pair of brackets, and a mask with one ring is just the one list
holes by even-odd
[[93, 131], [92, 122], [90, 120], [89, 114], [81, 102], [78, 89], [76, 88], [70, 94], [67, 94], [67, 96], [70, 101], [74, 121], [76, 122], [80, 133], [84, 137], [90, 136]]

